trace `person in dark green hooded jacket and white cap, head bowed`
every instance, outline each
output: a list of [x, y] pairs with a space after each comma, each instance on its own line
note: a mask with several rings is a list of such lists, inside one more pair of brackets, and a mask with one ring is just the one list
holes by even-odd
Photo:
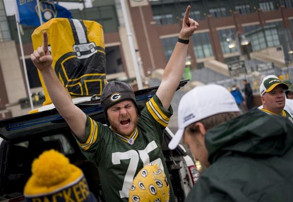
[[229, 118], [236, 104], [225, 90], [196, 87], [180, 101], [169, 148], [183, 137], [206, 167], [186, 202], [293, 202], [293, 124], [257, 109]]

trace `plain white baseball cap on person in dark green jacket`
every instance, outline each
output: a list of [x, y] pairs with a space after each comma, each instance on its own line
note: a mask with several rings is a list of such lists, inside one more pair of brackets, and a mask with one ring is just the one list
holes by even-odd
[[185, 127], [223, 112], [239, 112], [234, 97], [223, 86], [210, 84], [188, 91], [179, 102], [178, 131], [169, 142], [169, 149], [173, 150], [177, 147]]

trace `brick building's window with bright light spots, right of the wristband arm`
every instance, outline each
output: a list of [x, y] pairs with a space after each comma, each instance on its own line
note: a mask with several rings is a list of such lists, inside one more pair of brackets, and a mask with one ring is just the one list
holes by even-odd
[[219, 30], [218, 33], [221, 41], [223, 54], [235, 53], [239, 51], [239, 41], [235, 36], [234, 29], [223, 29]]

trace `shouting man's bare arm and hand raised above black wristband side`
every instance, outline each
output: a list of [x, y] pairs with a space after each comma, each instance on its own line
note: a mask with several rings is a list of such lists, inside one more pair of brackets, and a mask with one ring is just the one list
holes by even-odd
[[[189, 40], [189, 37], [193, 35], [193, 32], [198, 27], [198, 23], [189, 18], [190, 8], [191, 6], [188, 5], [184, 14], [182, 29], [179, 33], [179, 38], [183, 40]], [[169, 108], [174, 92], [177, 89], [182, 77], [187, 56], [187, 49], [188, 44], [177, 42], [171, 58], [165, 67], [162, 83], [156, 92], [156, 95], [161, 100], [165, 109]]]

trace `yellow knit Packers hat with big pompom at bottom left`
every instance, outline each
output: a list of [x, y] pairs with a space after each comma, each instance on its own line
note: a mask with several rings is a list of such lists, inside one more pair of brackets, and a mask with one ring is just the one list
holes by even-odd
[[26, 202], [97, 202], [82, 170], [53, 149], [33, 161], [23, 192]]

